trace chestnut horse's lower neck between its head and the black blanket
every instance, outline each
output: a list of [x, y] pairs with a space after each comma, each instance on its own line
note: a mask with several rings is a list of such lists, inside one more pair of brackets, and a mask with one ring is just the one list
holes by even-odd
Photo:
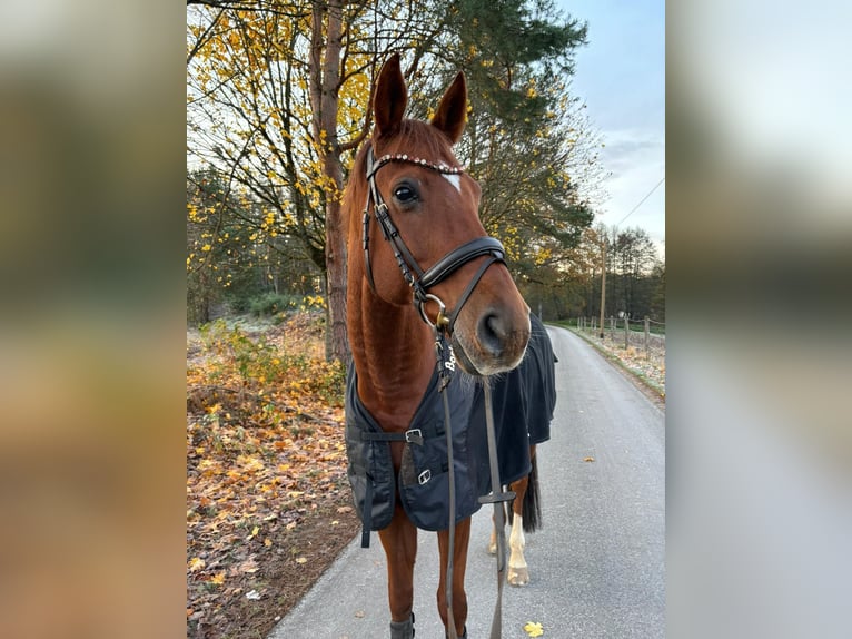
[[432, 330], [414, 305], [395, 306], [349, 283], [348, 332], [358, 396], [383, 430], [404, 431], [435, 371]]

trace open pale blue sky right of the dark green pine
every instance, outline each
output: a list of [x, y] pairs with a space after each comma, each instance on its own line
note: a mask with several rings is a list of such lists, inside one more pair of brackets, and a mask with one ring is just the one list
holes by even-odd
[[556, 0], [555, 4], [588, 23], [588, 45], [575, 57], [573, 89], [585, 100], [606, 145], [601, 160], [611, 177], [596, 222], [645, 229], [664, 257], [665, 181], [631, 210], [665, 176], [665, 2]]

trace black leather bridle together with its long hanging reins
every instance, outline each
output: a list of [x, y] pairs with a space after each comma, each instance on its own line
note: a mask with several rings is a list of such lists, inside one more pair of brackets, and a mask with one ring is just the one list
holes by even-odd
[[[444, 402], [444, 422], [446, 429], [447, 439], [447, 463], [448, 463], [448, 483], [449, 483], [449, 539], [448, 539], [448, 557], [447, 557], [447, 573], [446, 573], [446, 599], [447, 599], [447, 639], [458, 639], [455, 627], [455, 617], [453, 615], [453, 556], [455, 554], [455, 532], [456, 532], [456, 482], [455, 482], [455, 463], [453, 456], [453, 427], [450, 424], [450, 411], [449, 400], [445, 389], [452, 380], [452, 375], [455, 372], [456, 358], [453, 353], [453, 346], [449, 343], [449, 335], [453, 332], [455, 322], [458, 318], [458, 313], [465, 305], [467, 299], [476, 288], [476, 285], [482, 279], [486, 269], [499, 262], [505, 264], [505, 249], [503, 244], [489, 236], [477, 237], [467, 242], [447, 253], [444, 257], [438, 259], [430, 268], [423, 271], [417, 264], [417, 260], [412, 255], [412, 252], [406, 246], [403, 237], [399, 235], [399, 230], [390, 219], [390, 212], [387, 204], [382, 198], [382, 194], [376, 186], [375, 176], [378, 170], [389, 163], [407, 163], [424, 168], [428, 168], [439, 174], [446, 175], [460, 175], [464, 173], [462, 167], [452, 167], [445, 164], [435, 164], [428, 160], [408, 156], [405, 154], [393, 154], [382, 156], [378, 160], [375, 159], [373, 148], [368, 150], [367, 155], [367, 183], [369, 186], [369, 194], [367, 196], [367, 204], [364, 207], [364, 222], [363, 222], [363, 236], [361, 245], [364, 248], [364, 265], [366, 269], [367, 282], [370, 288], [376, 293], [376, 284], [373, 279], [373, 267], [369, 258], [369, 226], [370, 226], [370, 204], [373, 204], [373, 217], [382, 229], [384, 238], [390, 244], [396, 257], [399, 271], [403, 277], [412, 287], [414, 304], [417, 311], [420, 313], [420, 317], [429, 326], [432, 326], [435, 335], [435, 353], [438, 367], [438, 390]], [[464, 292], [456, 303], [456, 307], [447, 314], [446, 305], [436, 295], [429, 293], [429, 288], [444, 282], [447, 277], [453, 275], [462, 266], [468, 262], [476, 259], [477, 257], [487, 256], [474, 277], [465, 287]], [[424, 306], [426, 303], [433, 302], [438, 306], [438, 313], [435, 320], [429, 320]], [[492, 618], [491, 639], [499, 639], [502, 637], [502, 601], [503, 601], [503, 582], [505, 581], [505, 564], [506, 564], [506, 533], [505, 527], [505, 512], [503, 510], [503, 502], [511, 501], [515, 498], [515, 493], [511, 491], [503, 491], [503, 486], [499, 482], [499, 470], [497, 465], [497, 444], [494, 432], [494, 416], [492, 412], [492, 397], [491, 387], [485, 384], [485, 422], [486, 422], [486, 435], [488, 441], [488, 462], [491, 468], [491, 481], [492, 492], [488, 495], [479, 498], [479, 503], [493, 503], [494, 504], [494, 519], [495, 528], [497, 529], [497, 601], [494, 607], [494, 617]], [[465, 632], [466, 636], [466, 632]]]

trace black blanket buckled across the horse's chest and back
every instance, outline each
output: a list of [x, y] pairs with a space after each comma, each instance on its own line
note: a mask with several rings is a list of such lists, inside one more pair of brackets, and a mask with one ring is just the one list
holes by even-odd
[[[556, 404], [555, 372], [547, 330], [529, 316], [532, 334], [526, 355], [513, 371], [492, 380], [492, 405], [497, 439], [501, 483], [509, 484], [531, 471], [529, 445], [551, 438]], [[485, 402], [481, 382], [456, 374], [444, 391], [448, 395], [456, 479], [456, 521], [479, 509], [478, 495], [491, 492]], [[403, 441], [398, 476], [390, 461], [390, 442]], [[382, 530], [394, 517], [398, 498], [408, 518], [424, 530], [446, 530], [448, 462], [444, 404], [437, 372], [405, 433], [385, 433], [357, 393], [357, 373], [350, 366], [346, 391], [347, 474], [355, 507], [369, 531]]]

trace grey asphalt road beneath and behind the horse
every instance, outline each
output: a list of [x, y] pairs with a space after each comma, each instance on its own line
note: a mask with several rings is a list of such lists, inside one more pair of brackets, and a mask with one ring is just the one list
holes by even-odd
[[[526, 535], [529, 584], [504, 588], [503, 637], [524, 639], [524, 625], [537, 621], [544, 638], [662, 638], [664, 414], [579, 337], [548, 330], [559, 362], [552, 439], [538, 448], [544, 529]], [[474, 515], [466, 579], [470, 639], [488, 636], [496, 598], [489, 527], [491, 509], [483, 508]], [[356, 539], [269, 639], [389, 637], [376, 533], [370, 545]], [[444, 637], [437, 576], [436, 537], [419, 531], [417, 639]]]

